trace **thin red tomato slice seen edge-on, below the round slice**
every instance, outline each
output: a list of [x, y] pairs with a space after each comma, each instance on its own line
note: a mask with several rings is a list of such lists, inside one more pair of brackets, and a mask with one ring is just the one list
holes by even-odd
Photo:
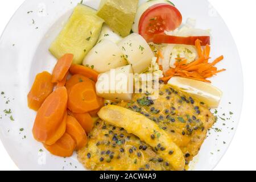
[[170, 36], [154, 35], [152, 42], [156, 44], [185, 44], [195, 46], [196, 40], [201, 40], [201, 46], [210, 45], [210, 36]]

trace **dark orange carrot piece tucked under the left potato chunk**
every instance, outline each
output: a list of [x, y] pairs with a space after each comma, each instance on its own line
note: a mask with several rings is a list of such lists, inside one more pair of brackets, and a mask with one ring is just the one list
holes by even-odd
[[95, 82], [97, 82], [98, 80], [98, 75], [99, 75], [98, 72], [82, 65], [72, 64], [69, 71], [71, 72], [72, 75], [76, 75], [76, 74], [84, 75], [85, 77], [88, 77]]

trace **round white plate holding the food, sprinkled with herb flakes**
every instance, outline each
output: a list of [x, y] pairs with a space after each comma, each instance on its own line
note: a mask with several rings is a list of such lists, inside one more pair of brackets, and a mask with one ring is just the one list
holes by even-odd
[[[84, 169], [75, 154], [65, 159], [52, 156], [33, 139], [31, 130], [36, 113], [27, 107], [27, 93], [36, 74], [51, 72], [56, 63], [48, 47], [77, 3], [80, 0], [25, 1], [0, 39], [0, 137], [20, 169]], [[84, 0], [84, 4], [95, 9], [99, 3], [100, 0]], [[209, 131], [199, 155], [191, 163], [191, 169], [211, 170], [225, 154], [240, 119], [243, 98], [240, 57], [232, 35], [208, 1], [197, 0], [195, 3], [174, 0], [174, 3], [184, 20], [195, 18], [197, 27], [212, 30], [211, 56], [225, 55], [225, 60], [218, 67], [226, 68], [227, 71], [212, 78], [212, 82], [224, 92], [218, 115], [226, 121], [218, 119], [214, 129]], [[7, 100], [10, 102], [5, 104]], [[11, 109], [12, 113], [5, 115], [5, 109]], [[230, 114], [230, 111], [234, 114]], [[15, 121], [11, 121], [11, 115]]]

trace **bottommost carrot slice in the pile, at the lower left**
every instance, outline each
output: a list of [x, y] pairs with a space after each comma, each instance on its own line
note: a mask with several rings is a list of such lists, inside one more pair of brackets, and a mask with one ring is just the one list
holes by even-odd
[[69, 157], [72, 156], [73, 151], [76, 148], [76, 142], [71, 137], [71, 135], [65, 133], [55, 144], [47, 145], [44, 144], [44, 147], [51, 152], [52, 155], [60, 157]]

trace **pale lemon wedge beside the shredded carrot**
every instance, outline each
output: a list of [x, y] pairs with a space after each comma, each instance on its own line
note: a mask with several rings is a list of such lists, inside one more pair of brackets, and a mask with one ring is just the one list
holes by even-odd
[[221, 90], [207, 82], [192, 80], [189, 78], [172, 77], [168, 81], [168, 84], [188, 93], [191, 97], [204, 102], [211, 109], [217, 108], [220, 104], [222, 97]]

